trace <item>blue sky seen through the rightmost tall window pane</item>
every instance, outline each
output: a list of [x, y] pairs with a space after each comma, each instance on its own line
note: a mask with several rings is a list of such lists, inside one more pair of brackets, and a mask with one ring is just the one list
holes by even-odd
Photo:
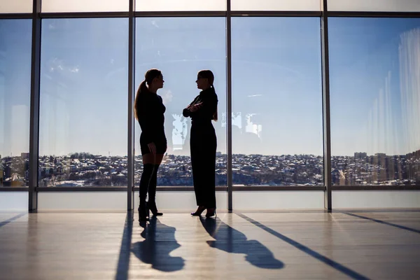
[[[401, 102], [401, 87], [416, 80], [418, 85], [420, 19], [331, 18], [329, 24], [332, 154], [419, 150], [418, 118], [415, 123], [403, 121], [414, 107]], [[410, 37], [409, 47], [404, 34]], [[407, 59], [400, 59], [399, 48], [411, 49], [409, 60], [414, 64], [409, 73], [400, 71]], [[412, 87], [408, 93], [418, 99], [420, 88]], [[419, 112], [419, 105], [414, 106]], [[415, 116], [418, 113], [409, 119]]]

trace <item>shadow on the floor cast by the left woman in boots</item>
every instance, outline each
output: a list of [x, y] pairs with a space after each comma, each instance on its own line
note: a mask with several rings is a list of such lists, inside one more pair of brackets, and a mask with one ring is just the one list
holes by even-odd
[[152, 217], [150, 223], [141, 224], [144, 228], [141, 236], [145, 239], [132, 247], [132, 252], [139, 260], [152, 265], [162, 272], [175, 272], [183, 269], [185, 260], [169, 255], [181, 245], [175, 239], [175, 228], [160, 223]]

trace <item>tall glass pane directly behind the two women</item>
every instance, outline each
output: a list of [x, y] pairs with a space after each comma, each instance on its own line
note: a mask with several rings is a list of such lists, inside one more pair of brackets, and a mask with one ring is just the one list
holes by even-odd
[[[197, 72], [211, 69], [218, 94], [216, 185], [226, 186], [226, 59], [225, 18], [137, 18], [136, 85], [148, 69], [162, 71], [165, 85], [158, 91], [166, 106], [167, 156], [158, 173], [158, 186], [193, 186], [190, 165], [190, 118], [183, 109], [200, 93]], [[144, 40], [144, 38], [147, 38]], [[141, 176], [140, 127], [136, 122], [136, 185]]]

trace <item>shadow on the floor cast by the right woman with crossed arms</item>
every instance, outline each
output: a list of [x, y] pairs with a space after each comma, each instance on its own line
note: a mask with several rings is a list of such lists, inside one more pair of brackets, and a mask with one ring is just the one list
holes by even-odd
[[248, 240], [246, 236], [223, 223], [219, 218], [202, 218], [200, 221], [209, 235], [216, 241], [207, 241], [212, 248], [228, 253], [245, 254], [245, 259], [260, 268], [281, 269], [283, 262], [274, 258], [274, 255], [267, 247], [257, 240]]

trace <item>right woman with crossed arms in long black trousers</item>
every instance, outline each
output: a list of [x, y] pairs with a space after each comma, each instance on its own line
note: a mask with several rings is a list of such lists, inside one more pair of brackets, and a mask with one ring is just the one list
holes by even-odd
[[217, 120], [217, 94], [214, 90], [214, 75], [210, 70], [197, 74], [197, 87], [202, 90], [194, 101], [183, 109], [184, 117], [191, 117], [191, 165], [197, 210], [191, 215], [201, 216], [207, 209], [206, 217], [216, 214], [216, 132], [211, 120]]

